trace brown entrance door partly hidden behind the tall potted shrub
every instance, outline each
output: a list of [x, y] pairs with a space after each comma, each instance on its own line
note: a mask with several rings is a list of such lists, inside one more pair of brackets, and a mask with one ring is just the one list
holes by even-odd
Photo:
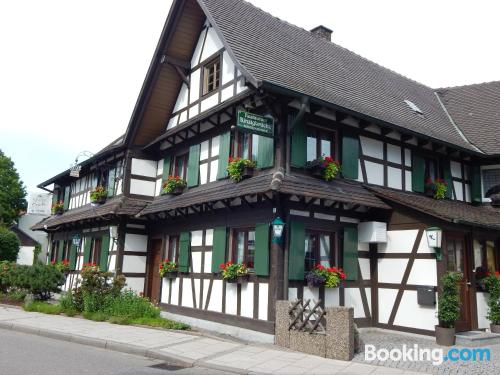
[[471, 312], [471, 259], [465, 246], [463, 235], [446, 236], [446, 256], [448, 271], [462, 274], [460, 287], [460, 317], [455, 324], [457, 331], [470, 331], [472, 328]]

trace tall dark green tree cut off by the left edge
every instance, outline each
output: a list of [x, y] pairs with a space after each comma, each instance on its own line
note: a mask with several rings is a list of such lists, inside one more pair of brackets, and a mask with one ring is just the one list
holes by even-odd
[[0, 225], [10, 226], [27, 207], [26, 189], [14, 162], [0, 150]]

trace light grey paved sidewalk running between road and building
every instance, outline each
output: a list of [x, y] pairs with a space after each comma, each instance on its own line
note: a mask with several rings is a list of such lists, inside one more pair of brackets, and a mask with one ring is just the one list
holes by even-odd
[[384, 374], [416, 372], [337, 361], [274, 345], [247, 345], [202, 336], [135, 326], [26, 312], [0, 305], [0, 329], [151, 357], [184, 366], [200, 366], [240, 374]]

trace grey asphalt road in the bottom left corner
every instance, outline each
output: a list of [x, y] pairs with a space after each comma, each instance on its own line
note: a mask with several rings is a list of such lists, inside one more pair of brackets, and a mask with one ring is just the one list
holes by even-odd
[[0, 329], [1, 375], [226, 375], [164, 361]]

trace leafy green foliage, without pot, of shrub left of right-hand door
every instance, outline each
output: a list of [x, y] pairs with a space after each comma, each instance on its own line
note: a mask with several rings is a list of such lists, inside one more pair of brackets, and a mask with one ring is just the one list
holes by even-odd
[[462, 275], [447, 272], [441, 278], [442, 291], [438, 299], [438, 320], [443, 328], [453, 328], [460, 317], [460, 296], [458, 282]]

